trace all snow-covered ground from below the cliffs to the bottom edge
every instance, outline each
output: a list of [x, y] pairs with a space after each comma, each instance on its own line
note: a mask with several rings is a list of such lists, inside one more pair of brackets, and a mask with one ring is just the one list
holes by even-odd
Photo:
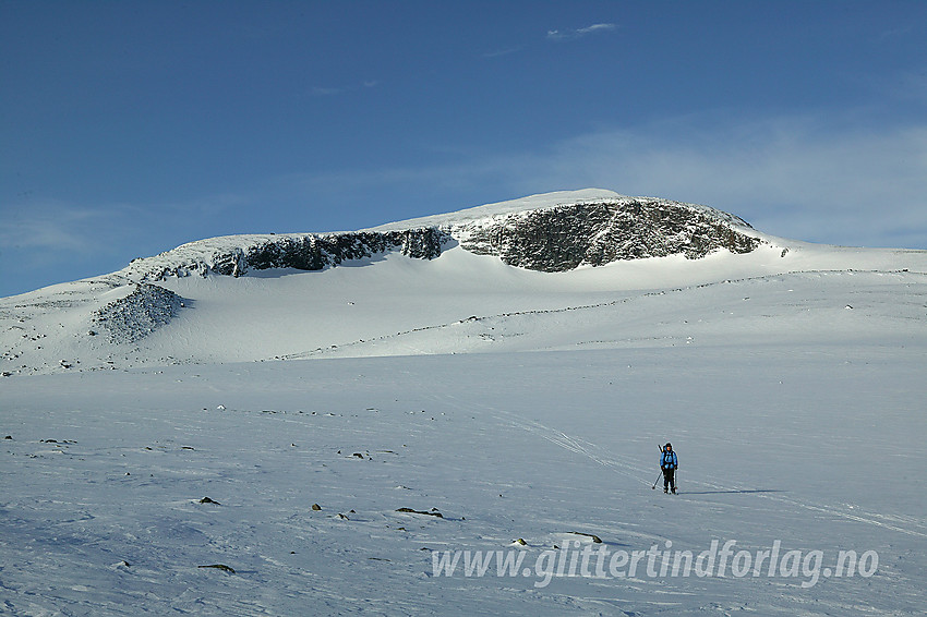
[[3, 299], [0, 614], [920, 614], [927, 255], [762, 238]]

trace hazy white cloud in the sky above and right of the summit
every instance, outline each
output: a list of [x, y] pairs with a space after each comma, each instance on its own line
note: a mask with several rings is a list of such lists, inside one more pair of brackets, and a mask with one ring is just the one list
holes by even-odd
[[797, 240], [927, 247], [927, 124], [876, 133], [784, 118], [606, 131], [535, 164], [535, 187], [698, 202]]

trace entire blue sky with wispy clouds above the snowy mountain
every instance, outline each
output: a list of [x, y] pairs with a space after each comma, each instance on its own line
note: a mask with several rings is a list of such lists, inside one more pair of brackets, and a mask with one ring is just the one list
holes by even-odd
[[927, 249], [927, 2], [0, 0], [0, 295], [597, 186]]

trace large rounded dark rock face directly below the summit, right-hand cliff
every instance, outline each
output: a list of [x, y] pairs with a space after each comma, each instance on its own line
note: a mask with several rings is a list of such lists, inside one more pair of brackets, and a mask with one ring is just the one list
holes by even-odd
[[749, 227], [746, 222], [721, 215], [662, 199], [628, 199], [517, 213], [452, 234], [468, 251], [541, 271], [674, 254], [695, 259], [715, 249], [749, 253], [759, 246], [732, 225]]

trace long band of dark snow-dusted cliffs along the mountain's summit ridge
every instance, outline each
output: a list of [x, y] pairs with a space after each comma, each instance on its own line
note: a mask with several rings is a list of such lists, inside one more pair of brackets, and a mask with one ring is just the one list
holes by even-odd
[[706, 206], [617, 195], [541, 207], [530, 198], [525, 203], [525, 209], [518, 208], [520, 202], [501, 209], [481, 206], [409, 221], [408, 228], [400, 222], [346, 233], [214, 238], [136, 259], [123, 274], [152, 281], [190, 274], [238, 277], [269, 268], [322, 270], [390, 251], [433, 259], [448, 241], [511, 266], [564, 271], [675, 254], [698, 258], [719, 249], [748, 253], [760, 244], [749, 225]]

